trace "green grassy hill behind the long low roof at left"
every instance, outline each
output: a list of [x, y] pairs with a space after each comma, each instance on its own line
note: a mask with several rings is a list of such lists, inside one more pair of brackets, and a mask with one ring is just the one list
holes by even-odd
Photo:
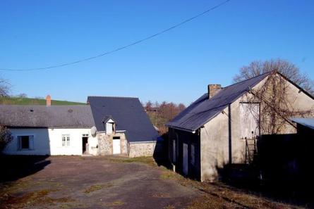
[[[13, 104], [13, 105], [46, 105], [46, 99], [35, 98], [20, 98], [20, 97], [0, 97], [0, 104]], [[85, 105], [85, 103], [73, 101], [59, 101], [52, 100], [52, 106], [61, 105]]]

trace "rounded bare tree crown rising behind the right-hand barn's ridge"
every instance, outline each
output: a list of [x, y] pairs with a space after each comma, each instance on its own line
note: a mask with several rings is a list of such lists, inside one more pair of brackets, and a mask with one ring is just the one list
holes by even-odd
[[243, 66], [240, 69], [239, 74], [234, 77], [234, 82], [241, 82], [251, 77], [261, 75], [265, 72], [272, 72], [274, 70], [282, 73], [282, 75], [287, 77], [289, 80], [298, 84], [298, 86], [313, 95], [313, 80], [310, 80], [308, 75], [301, 73], [296, 65], [282, 59], [275, 59], [270, 61], [253, 61], [249, 65]]

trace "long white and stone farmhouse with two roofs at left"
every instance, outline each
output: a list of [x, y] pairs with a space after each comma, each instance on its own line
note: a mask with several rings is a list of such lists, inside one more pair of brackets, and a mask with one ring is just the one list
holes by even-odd
[[11, 155], [152, 156], [158, 134], [137, 98], [89, 96], [87, 105], [0, 105]]

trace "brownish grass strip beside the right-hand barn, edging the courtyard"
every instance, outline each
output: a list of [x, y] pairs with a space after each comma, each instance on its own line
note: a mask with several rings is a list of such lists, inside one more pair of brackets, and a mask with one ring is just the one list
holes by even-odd
[[[195, 198], [188, 209], [205, 208], [301, 208], [294, 205], [279, 203], [268, 198], [249, 194], [241, 189], [228, 186], [221, 182], [209, 183], [186, 179], [176, 172], [164, 168], [159, 176], [166, 181], [174, 181], [182, 186], [189, 186], [201, 192], [201, 196]], [[171, 205], [169, 205], [171, 207]]]

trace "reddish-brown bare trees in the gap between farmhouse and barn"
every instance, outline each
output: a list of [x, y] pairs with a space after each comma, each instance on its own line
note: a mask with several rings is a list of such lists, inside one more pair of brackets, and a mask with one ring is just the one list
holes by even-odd
[[152, 103], [151, 101], [147, 101], [144, 108], [147, 115], [150, 117], [152, 124], [159, 128], [159, 132], [164, 134], [167, 132], [165, 124], [181, 113], [186, 106], [184, 106], [183, 103], [167, 103], [166, 101], [163, 101], [162, 103], [158, 103], [157, 101]]

